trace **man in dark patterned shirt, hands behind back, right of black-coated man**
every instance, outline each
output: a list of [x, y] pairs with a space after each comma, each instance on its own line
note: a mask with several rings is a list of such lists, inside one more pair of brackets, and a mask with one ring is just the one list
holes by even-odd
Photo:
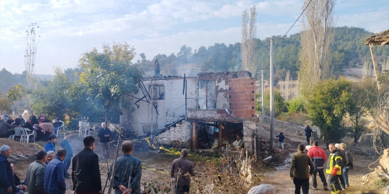
[[[142, 177], [142, 163], [139, 158], [132, 156], [134, 144], [124, 141], [121, 146], [123, 156], [117, 158], [115, 166], [114, 185], [115, 194], [140, 194], [140, 178]], [[113, 164], [113, 163], [112, 163]], [[112, 173], [112, 164], [110, 172]], [[127, 188], [127, 186], [129, 187]]]

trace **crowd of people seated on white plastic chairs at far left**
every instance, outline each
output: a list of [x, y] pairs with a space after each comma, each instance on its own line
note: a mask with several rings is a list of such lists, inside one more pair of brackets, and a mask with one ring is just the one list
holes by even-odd
[[[63, 122], [60, 118], [56, 118], [53, 123], [47, 119], [44, 112], [41, 112], [39, 116], [32, 115], [27, 120], [24, 120], [19, 115], [15, 120], [12, 116], [4, 114], [3, 118], [0, 119], [0, 137], [10, 137], [15, 135], [15, 127], [23, 127], [28, 129], [28, 133], [34, 133], [35, 141], [46, 141], [50, 135], [57, 134], [58, 128], [63, 126]], [[19, 140], [20, 136], [15, 136], [15, 140]]]

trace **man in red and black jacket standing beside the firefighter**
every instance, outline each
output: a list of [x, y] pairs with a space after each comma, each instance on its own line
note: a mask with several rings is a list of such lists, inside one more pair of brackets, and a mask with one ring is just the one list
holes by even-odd
[[319, 147], [319, 141], [315, 140], [313, 147], [308, 150], [308, 156], [312, 158], [315, 166], [314, 175], [312, 177], [314, 190], [317, 190], [316, 174], [319, 173], [321, 182], [323, 183], [323, 189], [328, 190], [326, 176], [324, 175], [324, 163], [327, 161], [326, 152]]

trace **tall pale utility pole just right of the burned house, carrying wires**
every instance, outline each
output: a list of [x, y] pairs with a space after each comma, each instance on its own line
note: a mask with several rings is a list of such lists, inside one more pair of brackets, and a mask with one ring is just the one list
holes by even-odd
[[273, 39], [270, 38], [270, 149], [274, 149]]

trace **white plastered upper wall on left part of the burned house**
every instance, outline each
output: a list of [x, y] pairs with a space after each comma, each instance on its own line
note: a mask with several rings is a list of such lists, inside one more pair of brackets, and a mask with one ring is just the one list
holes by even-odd
[[[185, 116], [185, 95], [182, 95], [184, 78], [168, 78], [165, 80], [153, 80], [152, 85], [164, 85], [165, 86], [165, 99], [156, 100], [158, 104], [158, 113], [155, 109], [151, 113], [151, 104], [140, 101], [139, 108], [131, 113], [130, 122], [134, 132], [137, 135], [145, 135], [146, 133], [142, 129], [142, 124], [151, 123], [151, 115], [153, 123], [157, 120], [157, 129], [164, 128], [165, 125], [172, 124], [179, 118]], [[196, 97], [197, 78], [187, 78], [187, 97]], [[151, 85], [151, 81], [144, 81], [145, 87], [148, 89]], [[149, 91], [151, 94], [151, 91]], [[134, 95], [135, 97], [143, 97], [142, 91]], [[137, 99], [132, 99], [135, 102]], [[193, 108], [196, 103], [189, 103], [188, 108]], [[193, 101], [193, 100], [192, 100]], [[167, 116], [166, 116], [167, 115]], [[130, 115], [128, 115], [130, 116]], [[189, 132], [188, 132], [189, 133]]]

